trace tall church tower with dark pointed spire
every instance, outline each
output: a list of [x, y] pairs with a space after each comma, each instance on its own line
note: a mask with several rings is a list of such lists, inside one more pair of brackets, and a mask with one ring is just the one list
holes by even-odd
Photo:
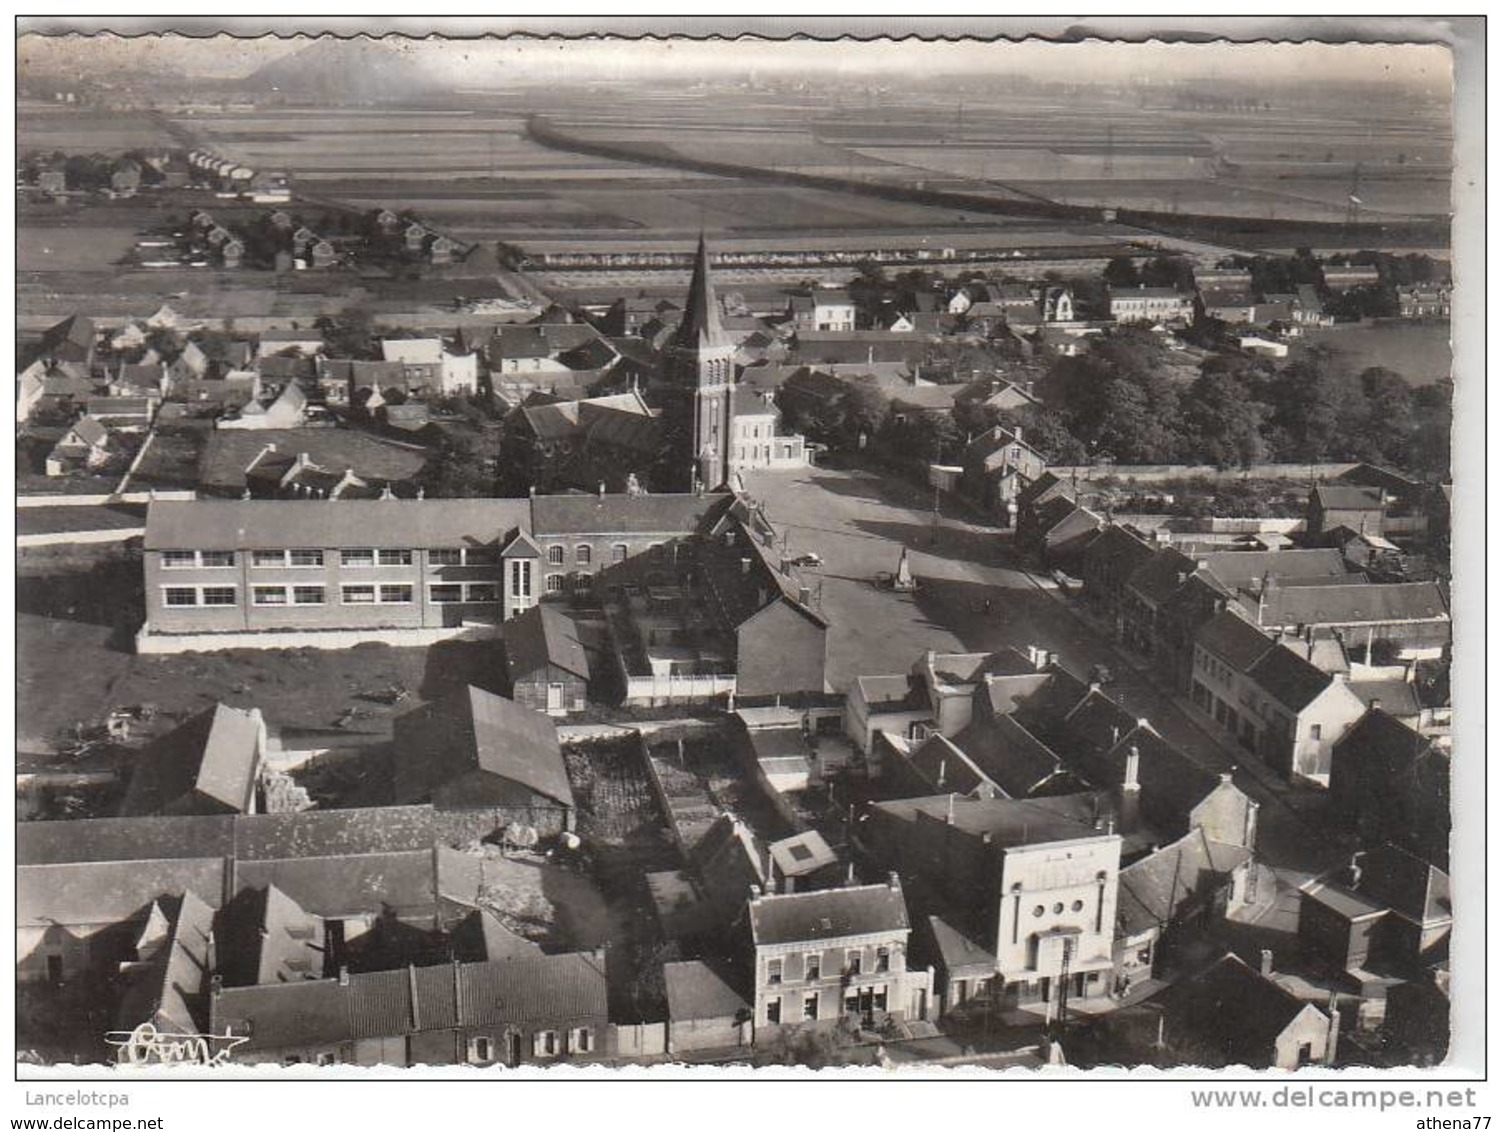
[[734, 419], [736, 344], [719, 323], [719, 302], [709, 278], [709, 249], [698, 237], [694, 278], [683, 320], [665, 351], [664, 377], [680, 395], [692, 395], [694, 483], [706, 491], [730, 476], [730, 425]]

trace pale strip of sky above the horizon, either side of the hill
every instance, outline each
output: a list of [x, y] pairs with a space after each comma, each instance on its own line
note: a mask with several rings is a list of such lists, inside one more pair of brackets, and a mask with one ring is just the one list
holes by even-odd
[[[1449, 53], [1431, 45], [1325, 44], [1047, 44], [1047, 42], [736, 42], [692, 41], [394, 41], [436, 78], [466, 87], [556, 80], [560, 68], [580, 78], [691, 78], [756, 72], [763, 77], [859, 75], [901, 84], [906, 77], [1017, 74], [1041, 80], [1119, 81], [1224, 78], [1227, 81], [1340, 81], [1382, 77], [1394, 84], [1445, 90]], [[234, 78], [287, 56], [306, 39], [135, 39], [23, 36], [27, 65], [108, 74], [129, 60], [194, 77]]]

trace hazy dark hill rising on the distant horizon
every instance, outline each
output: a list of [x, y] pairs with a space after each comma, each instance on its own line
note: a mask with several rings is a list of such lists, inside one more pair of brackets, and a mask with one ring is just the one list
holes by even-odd
[[406, 39], [315, 39], [293, 54], [267, 63], [239, 86], [258, 99], [357, 105], [424, 98], [439, 86], [407, 59]]

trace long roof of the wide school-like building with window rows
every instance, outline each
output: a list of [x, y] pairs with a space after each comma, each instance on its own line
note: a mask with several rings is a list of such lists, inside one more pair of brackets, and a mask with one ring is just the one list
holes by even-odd
[[146, 513], [146, 548], [487, 546], [529, 518], [523, 498], [158, 500]]

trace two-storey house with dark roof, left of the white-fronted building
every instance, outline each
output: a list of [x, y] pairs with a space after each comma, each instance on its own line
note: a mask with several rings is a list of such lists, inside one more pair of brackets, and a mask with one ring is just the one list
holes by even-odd
[[846, 1015], [928, 1016], [931, 974], [907, 965], [903, 886], [757, 896], [746, 905], [754, 1040], [778, 1027], [837, 1025]]

